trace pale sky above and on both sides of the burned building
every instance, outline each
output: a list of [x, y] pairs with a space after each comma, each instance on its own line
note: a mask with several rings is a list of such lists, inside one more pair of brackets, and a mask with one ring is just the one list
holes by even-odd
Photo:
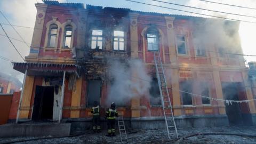
[[[147, 12], [158, 12], [158, 13], [169, 13], [169, 14], [182, 14], [182, 15], [193, 15], [199, 17], [205, 17], [203, 15], [198, 14], [191, 14], [187, 12], [180, 12], [174, 11], [170, 9], [164, 9], [155, 6], [149, 6], [144, 4], [138, 4], [133, 2], [128, 2], [124, 0], [58, 0], [59, 2], [69, 2], [69, 3], [83, 3], [84, 5], [98, 5], [98, 6], [110, 6], [110, 7], [123, 7], [129, 8], [131, 10], [138, 10], [138, 11], [147, 11]], [[160, 2], [155, 2], [151, 0], [134, 0], [138, 2], [144, 2], [154, 5], [160, 5], [165, 7], [171, 7], [173, 9], [185, 10], [185, 11], [193, 11], [197, 13], [209, 14], [209, 15], [217, 15], [219, 17], [225, 17], [230, 19], [239, 19], [244, 21], [252, 21], [255, 23], [249, 22], [241, 22], [239, 27], [239, 36], [241, 37], [241, 46], [243, 49], [244, 54], [256, 55], [256, 18], [249, 18], [249, 17], [242, 17], [237, 15], [230, 15], [230, 14], [223, 14], [217, 12], [209, 12], [204, 10], [197, 10], [189, 7], [182, 7], [176, 6], [171, 4], [164, 4]], [[200, 0], [160, 0], [170, 3], [177, 3], [182, 5], [194, 6], [194, 7], [201, 7], [203, 9], [215, 10], [215, 11], [223, 11], [228, 13], [237, 13], [243, 15], [251, 15], [256, 17], [256, 10], [244, 9], [240, 7], [234, 6], [226, 6], [220, 4], [214, 4], [209, 2], [203, 2]], [[253, 7], [256, 8], [256, 1], [255, 0], [209, 0], [212, 2], [220, 2], [220, 3], [227, 3], [231, 5], [240, 5], [245, 7]], [[0, 10], [4, 13], [6, 18], [11, 22], [12, 25], [18, 26], [25, 26], [25, 27], [34, 27], [35, 25], [35, 18], [36, 18], [36, 7], [35, 3], [42, 3], [41, 0], [1, 0], [0, 1]], [[0, 15], [0, 23], [7, 23], [2, 15]], [[11, 26], [3, 25], [4, 29], [6, 30], [7, 34], [17, 40], [11, 39], [14, 45], [17, 47], [19, 52], [21, 53], [22, 57], [29, 55], [29, 47], [20, 42], [22, 39], [18, 36], [17, 33], [13, 30]], [[32, 28], [21, 28], [21, 27], [14, 27], [19, 34], [25, 39], [26, 43], [31, 43], [33, 29]], [[4, 32], [0, 28], [0, 57], [8, 58], [9, 60], [15, 62], [22, 62], [23, 60], [18, 55], [18, 53], [14, 50], [13, 46], [9, 42], [9, 40], [3, 36]], [[256, 57], [245, 57], [246, 62], [249, 61], [256, 61]], [[23, 74], [19, 73], [16, 70], [12, 69], [12, 65], [10, 61], [6, 61], [0, 59], [0, 68], [1, 71], [12, 75], [14, 77], [18, 77], [22, 82]]]

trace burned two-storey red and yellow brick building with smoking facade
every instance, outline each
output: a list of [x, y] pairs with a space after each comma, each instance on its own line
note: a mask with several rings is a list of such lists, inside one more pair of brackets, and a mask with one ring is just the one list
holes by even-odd
[[132, 127], [164, 127], [159, 51], [178, 127], [255, 124], [253, 101], [225, 102], [253, 99], [244, 59], [232, 54], [242, 52], [239, 22], [43, 2], [30, 54], [14, 63], [25, 74], [19, 121], [84, 123], [93, 101], [102, 116], [114, 101]]

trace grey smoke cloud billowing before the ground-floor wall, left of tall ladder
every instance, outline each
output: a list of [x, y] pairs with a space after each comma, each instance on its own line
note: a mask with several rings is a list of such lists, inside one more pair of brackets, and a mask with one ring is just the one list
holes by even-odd
[[142, 61], [131, 59], [124, 62], [109, 60], [111, 77], [107, 103], [115, 102], [125, 106], [134, 97], [148, 95], [151, 77], [147, 74]]

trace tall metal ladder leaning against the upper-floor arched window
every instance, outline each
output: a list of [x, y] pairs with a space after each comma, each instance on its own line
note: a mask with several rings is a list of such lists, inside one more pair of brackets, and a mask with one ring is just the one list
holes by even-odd
[[[154, 61], [156, 66], [156, 76], [157, 76], [159, 91], [161, 94], [161, 101], [162, 101], [162, 107], [164, 111], [164, 119], [165, 119], [168, 138], [170, 139], [171, 135], [175, 134], [177, 139], [179, 139], [177, 127], [174, 121], [171, 100], [170, 100], [169, 92], [167, 89], [162, 60], [158, 50], [153, 51], [153, 53], [154, 53]], [[173, 129], [175, 130], [175, 133], [170, 132], [170, 131], [173, 131]]]

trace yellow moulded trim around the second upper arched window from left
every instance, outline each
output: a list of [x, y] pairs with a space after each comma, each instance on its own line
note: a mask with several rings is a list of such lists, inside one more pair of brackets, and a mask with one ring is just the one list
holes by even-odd
[[77, 28], [77, 26], [76, 26], [76, 24], [72, 21], [72, 19], [71, 18], [67, 18], [67, 21], [66, 22], [64, 22], [64, 23], [62, 23], [62, 25], [61, 25], [61, 31], [62, 31], [62, 33], [61, 33], [61, 41], [60, 41], [60, 49], [65, 49], [65, 50], [67, 50], [67, 48], [65, 48], [65, 47], [63, 47], [63, 45], [64, 45], [64, 36], [65, 36], [65, 28], [66, 28], [66, 26], [68, 26], [68, 25], [70, 25], [71, 27], [72, 27], [72, 35], [71, 35], [71, 43], [70, 43], [70, 47], [69, 47], [69, 49], [68, 50], [71, 50], [71, 49], [73, 49], [73, 47], [74, 47], [74, 37], [75, 37], [75, 30], [76, 30], [76, 28]]

